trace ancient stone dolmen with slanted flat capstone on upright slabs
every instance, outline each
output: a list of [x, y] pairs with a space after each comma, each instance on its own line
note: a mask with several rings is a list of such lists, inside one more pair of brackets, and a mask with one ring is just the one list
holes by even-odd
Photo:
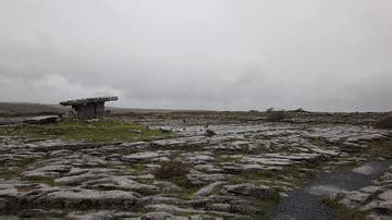
[[117, 100], [119, 100], [119, 97], [117, 96], [106, 96], [61, 101], [60, 105], [72, 106], [77, 112], [78, 120], [102, 120], [105, 114], [105, 102]]

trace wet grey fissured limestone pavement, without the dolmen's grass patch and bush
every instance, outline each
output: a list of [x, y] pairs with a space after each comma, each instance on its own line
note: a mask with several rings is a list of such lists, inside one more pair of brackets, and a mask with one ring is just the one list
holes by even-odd
[[[390, 136], [359, 125], [222, 123], [208, 126], [216, 133], [208, 137], [203, 124], [144, 123], [177, 136], [115, 144], [0, 136], [2, 217], [258, 219], [303, 180], [363, 162], [358, 150]], [[155, 170], [174, 155], [191, 172], [158, 179]], [[387, 172], [342, 203], [390, 215], [391, 180]]]

